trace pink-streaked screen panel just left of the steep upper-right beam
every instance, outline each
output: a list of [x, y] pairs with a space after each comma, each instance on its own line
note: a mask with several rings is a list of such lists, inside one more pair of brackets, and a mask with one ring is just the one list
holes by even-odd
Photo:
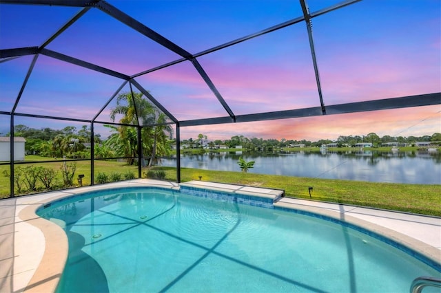
[[304, 23], [198, 60], [236, 115], [320, 106]]

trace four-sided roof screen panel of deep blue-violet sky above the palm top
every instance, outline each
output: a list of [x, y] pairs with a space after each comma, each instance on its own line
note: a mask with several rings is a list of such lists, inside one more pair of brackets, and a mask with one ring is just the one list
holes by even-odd
[[98, 9], [89, 10], [48, 49], [128, 75], [181, 58]]

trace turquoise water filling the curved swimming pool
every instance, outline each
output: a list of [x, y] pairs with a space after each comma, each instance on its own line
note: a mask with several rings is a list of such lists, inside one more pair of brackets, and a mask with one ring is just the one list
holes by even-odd
[[441, 275], [331, 221], [160, 188], [81, 195], [38, 214], [68, 235], [58, 292], [409, 292], [416, 277]]

